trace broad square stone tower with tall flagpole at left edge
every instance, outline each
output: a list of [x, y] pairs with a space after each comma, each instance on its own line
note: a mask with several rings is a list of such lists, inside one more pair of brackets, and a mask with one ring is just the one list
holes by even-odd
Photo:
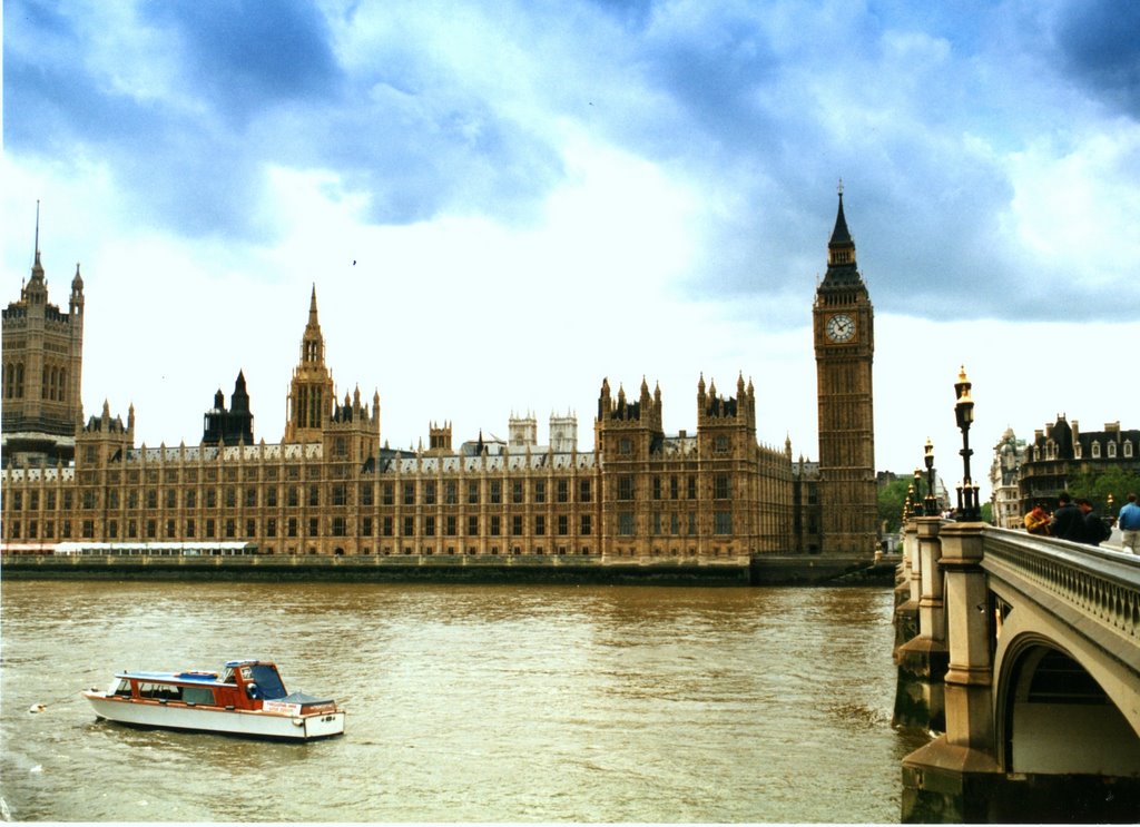
[[3, 311], [3, 462], [68, 461], [83, 427], [83, 279], [75, 265], [67, 312], [48, 302], [40, 262], [39, 207], [35, 260], [19, 301]]

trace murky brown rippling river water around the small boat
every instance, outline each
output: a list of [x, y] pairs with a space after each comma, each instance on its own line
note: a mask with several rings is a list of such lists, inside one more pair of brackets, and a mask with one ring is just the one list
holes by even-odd
[[[3, 582], [19, 820], [897, 821], [886, 588]], [[119, 669], [277, 661], [341, 738], [97, 721]], [[39, 713], [33, 704], [44, 704]]]

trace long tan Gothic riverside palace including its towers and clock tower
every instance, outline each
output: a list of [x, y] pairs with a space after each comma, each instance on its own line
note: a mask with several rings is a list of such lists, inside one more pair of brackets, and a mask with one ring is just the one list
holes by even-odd
[[758, 444], [756, 394], [703, 376], [697, 427], [666, 434], [659, 387], [603, 379], [594, 447], [575, 417], [532, 416], [508, 440], [384, 447], [380, 395], [339, 399], [317, 292], [309, 300], [279, 442], [255, 439], [245, 377], [218, 391], [197, 445], [135, 444], [135, 409], [84, 419], [83, 279], [50, 304], [39, 231], [31, 278], [2, 311], [2, 541], [252, 543], [274, 555], [581, 555], [740, 558], [870, 555], [878, 546], [873, 311], [856, 267], [842, 193], [813, 304], [820, 455]]

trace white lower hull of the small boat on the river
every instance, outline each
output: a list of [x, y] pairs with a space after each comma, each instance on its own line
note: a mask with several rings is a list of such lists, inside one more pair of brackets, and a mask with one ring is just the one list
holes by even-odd
[[95, 714], [108, 721], [138, 727], [226, 732], [253, 738], [311, 740], [344, 732], [343, 712], [283, 714], [260, 710], [226, 710], [217, 706], [163, 704], [108, 697], [104, 693], [83, 693]]

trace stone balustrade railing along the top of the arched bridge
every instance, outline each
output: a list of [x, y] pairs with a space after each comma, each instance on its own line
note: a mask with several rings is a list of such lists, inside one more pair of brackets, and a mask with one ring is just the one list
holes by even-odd
[[1026, 580], [1122, 636], [1122, 642], [1137, 645], [1140, 560], [1008, 529], [986, 529], [982, 543], [985, 571], [1003, 580]]

